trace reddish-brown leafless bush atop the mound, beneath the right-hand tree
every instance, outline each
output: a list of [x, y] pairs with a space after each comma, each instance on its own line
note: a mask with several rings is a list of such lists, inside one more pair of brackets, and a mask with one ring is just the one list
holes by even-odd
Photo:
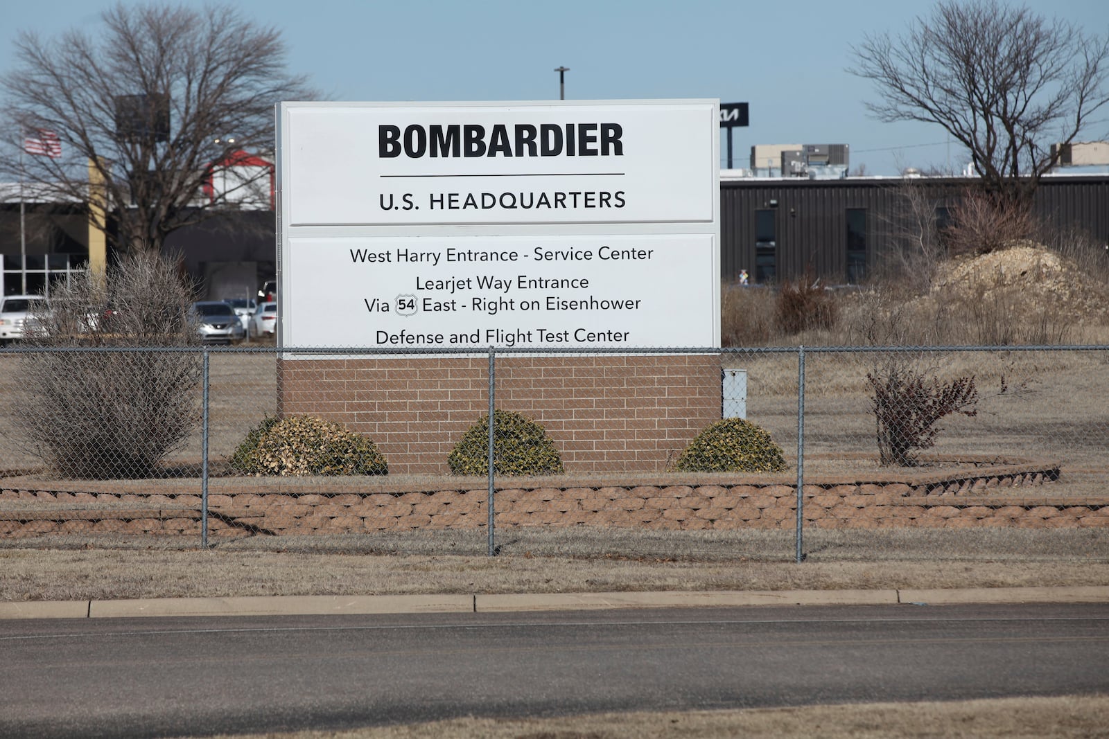
[[1036, 219], [1022, 204], [967, 191], [952, 208], [952, 225], [943, 236], [948, 255], [957, 257], [1000, 252], [1035, 232]]

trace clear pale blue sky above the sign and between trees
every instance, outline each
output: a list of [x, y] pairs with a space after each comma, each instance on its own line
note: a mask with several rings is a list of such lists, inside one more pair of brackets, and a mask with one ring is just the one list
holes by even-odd
[[[95, 31], [96, 0], [9, 3], [0, 34]], [[138, 4], [125, 1], [124, 4]], [[203, 6], [186, 0], [184, 4]], [[901, 31], [926, 3], [891, 0], [240, 0], [288, 44], [289, 70], [333, 100], [470, 101], [718, 97], [751, 105], [733, 155], [752, 144], [845, 143], [854, 170], [958, 168], [963, 153], [938, 126], [881, 123], [869, 84], [845, 71], [865, 32]], [[1109, 31], [1106, 0], [1030, 0], [1046, 16]], [[12, 64], [0, 47], [0, 71]], [[1109, 111], [1086, 140], [1109, 135]], [[723, 153], [724, 146], [721, 146]]]

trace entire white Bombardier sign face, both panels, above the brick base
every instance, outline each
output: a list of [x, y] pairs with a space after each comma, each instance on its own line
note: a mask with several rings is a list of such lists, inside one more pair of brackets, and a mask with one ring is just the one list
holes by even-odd
[[719, 346], [716, 110], [282, 103], [278, 341]]

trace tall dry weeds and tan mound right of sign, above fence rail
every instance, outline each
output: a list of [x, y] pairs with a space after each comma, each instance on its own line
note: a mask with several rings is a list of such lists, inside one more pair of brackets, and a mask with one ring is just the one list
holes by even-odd
[[[1010, 248], [943, 260], [928, 270], [830, 294], [833, 325], [775, 319], [777, 291], [725, 286], [725, 347], [1016, 346], [1105, 343], [1109, 258], [1081, 234], [1044, 237], [1050, 248], [1007, 239]], [[803, 308], [802, 308], [803, 309]], [[810, 310], [816, 310], [815, 307]], [[821, 316], [824, 314], [822, 312]], [[802, 317], [803, 318], [803, 317]]]

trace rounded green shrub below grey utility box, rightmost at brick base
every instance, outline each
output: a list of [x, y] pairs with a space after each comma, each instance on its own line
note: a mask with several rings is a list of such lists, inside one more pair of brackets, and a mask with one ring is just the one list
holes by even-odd
[[782, 448], [743, 419], [710, 423], [678, 458], [678, 472], [783, 472]]

